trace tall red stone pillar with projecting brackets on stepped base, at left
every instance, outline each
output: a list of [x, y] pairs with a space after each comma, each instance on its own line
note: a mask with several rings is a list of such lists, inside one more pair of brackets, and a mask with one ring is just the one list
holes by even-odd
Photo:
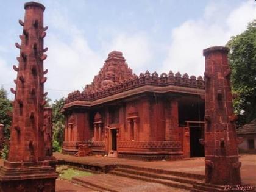
[[[16, 90], [13, 102], [13, 119], [10, 129], [10, 151], [4, 166], [0, 168], [0, 191], [55, 191], [57, 174], [52, 164], [46, 160], [44, 149], [44, 87], [46, 82], [43, 60], [46, 59], [43, 38], [45, 7], [36, 2], [24, 5], [23, 34], [20, 35], [20, 57], [18, 66], [13, 69], [18, 73], [15, 80]], [[51, 153], [49, 154], [51, 155]]]

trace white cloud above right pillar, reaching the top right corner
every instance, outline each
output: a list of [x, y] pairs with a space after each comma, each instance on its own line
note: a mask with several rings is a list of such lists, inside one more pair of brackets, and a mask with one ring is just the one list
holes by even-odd
[[172, 43], [162, 71], [171, 69], [182, 74], [202, 75], [202, 50], [210, 46], [224, 46], [232, 35], [243, 32], [247, 23], [256, 18], [253, 1], [244, 2], [228, 14], [224, 8], [224, 5], [209, 4], [202, 18], [185, 21], [172, 30]]

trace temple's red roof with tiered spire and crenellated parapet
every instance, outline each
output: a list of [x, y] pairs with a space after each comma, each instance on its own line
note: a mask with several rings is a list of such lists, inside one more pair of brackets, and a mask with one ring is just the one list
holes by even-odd
[[[137, 76], [132, 73], [122, 52], [112, 51], [108, 54], [98, 75], [94, 76], [93, 82], [86, 85], [82, 92], [76, 90], [69, 93], [65, 103], [93, 102], [98, 99], [103, 102], [103, 98], [121, 96], [121, 93], [128, 96], [129, 91], [132, 91], [131, 94], [141, 93], [141, 91], [157, 91], [158, 93], [178, 92], [201, 95], [204, 94], [203, 90], [204, 78], [202, 76], [188, 76], [187, 73], [182, 75], [179, 72], [174, 74], [172, 71], [158, 75], [157, 72], [151, 74], [148, 70]], [[68, 106], [65, 105], [65, 107]]]

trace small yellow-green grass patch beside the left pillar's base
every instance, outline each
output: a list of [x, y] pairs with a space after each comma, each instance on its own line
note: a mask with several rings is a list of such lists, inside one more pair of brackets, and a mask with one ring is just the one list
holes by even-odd
[[[58, 169], [60, 171], [58, 171]], [[66, 180], [71, 180], [72, 177], [82, 177], [82, 176], [91, 176], [91, 175], [93, 175], [91, 172], [80, 171], [80, 170], [77, 170], [77, 169], [68, 168], [66, 166], [58, 167], [57, 171], [59, 172], [59, 178], [60, 179], [66, 179]]]

